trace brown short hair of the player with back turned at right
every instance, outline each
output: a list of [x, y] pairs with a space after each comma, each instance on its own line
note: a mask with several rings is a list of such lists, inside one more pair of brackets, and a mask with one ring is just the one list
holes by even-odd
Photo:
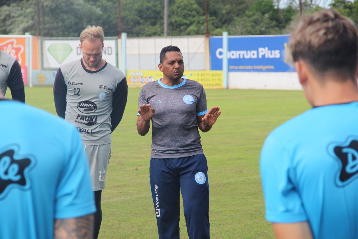
[[336, 10], [319, 11], [301, 20], [290, 37], [289, 50], [294, 62], [302, 59], [318, 75], [333, 73], [337, 81], [355, 80], [357, 28]]

